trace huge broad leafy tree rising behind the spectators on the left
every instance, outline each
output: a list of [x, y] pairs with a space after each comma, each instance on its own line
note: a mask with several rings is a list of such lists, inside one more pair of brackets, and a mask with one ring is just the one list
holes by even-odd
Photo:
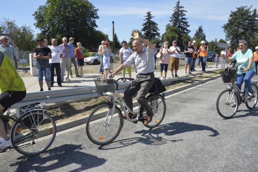
[[93, 49], [102, 41], [95, 38], [97, 12], [88, 0], [47, 0], [34, 12], [34, 25], [48, 40], [55, 37], [61, 43], [62, 37], [74, 37], [76, 42]]

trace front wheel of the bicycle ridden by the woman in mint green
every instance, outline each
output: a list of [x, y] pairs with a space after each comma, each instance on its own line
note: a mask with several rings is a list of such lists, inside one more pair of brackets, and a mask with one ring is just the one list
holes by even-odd
[[[223, 118], [232, 118], [238, 109], [238, 97], [232, 90], [226, 89], [217, 98], [216, 108], [219, 115]], [[235, 103], [235, 105], [234, 105]]]

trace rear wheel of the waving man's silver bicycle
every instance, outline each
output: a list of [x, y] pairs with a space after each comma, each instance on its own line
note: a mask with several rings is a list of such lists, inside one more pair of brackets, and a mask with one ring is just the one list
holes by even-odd
[[[150, 105], [152, 112], [154, 112], [154, 116], [152, 118], [152, 121], [145, 126], [148, 128], [155, 128], [160, 125], [165, 117], [166, 102], [160, 94], [150, 94], [146, 97], [146, 99], [148, 101], [148, 104]], [[144, 115], [146, 115], [146, 111], [143, 107], [141, 107], [140, 117], [143, 117]], [[144, 121], [142, 121], [142, 123], [144, 124]]]

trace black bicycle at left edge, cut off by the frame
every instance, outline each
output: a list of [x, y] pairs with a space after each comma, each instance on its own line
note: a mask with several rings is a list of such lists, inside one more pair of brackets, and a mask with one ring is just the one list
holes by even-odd
[[12, 146], [0, 148], [0, 153], [15, 149], [23, 155], [31, 156], [40, 154], [51, 146], [56, 136], [56, 125], [44, 105], [45, 103], [35, 103], [23, 106], [18, 113], [11, 113], [8, 108], [6, 115], [0, 115], [6, 119], [5, 131], [10, 119], [13, 122], [9, 132]]

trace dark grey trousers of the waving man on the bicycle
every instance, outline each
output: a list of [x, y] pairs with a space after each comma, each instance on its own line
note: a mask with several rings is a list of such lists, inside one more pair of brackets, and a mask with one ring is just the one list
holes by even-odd
[[130, 110], [133, 110], [132, 96], [134, 96], [137, 91], [139, 91], [136, 96], [137, 101], [146, 110], [147, 115], [152, 113], [145, 96], [148, 94], [151, 86], [154, 84], [154, 80], [155, 76], [153, 72], [147, 74], [138, 74], [136, 76], [136, 80], [134, 80], [124, 91], [124, 101]]

